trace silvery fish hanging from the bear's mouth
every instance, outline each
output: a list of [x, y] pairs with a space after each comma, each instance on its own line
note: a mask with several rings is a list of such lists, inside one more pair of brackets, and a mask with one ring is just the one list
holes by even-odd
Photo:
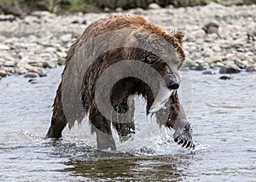
[[160, 84], [160, 91], [157, 94], [154, 103], [151, 105], [148, 113], [154, 114], [155, 112], [160, 111], [160, 109], [165, 108], [166, 102], [169, 100], [172, 94], [172, 89], [166, 88], [165, 85]]

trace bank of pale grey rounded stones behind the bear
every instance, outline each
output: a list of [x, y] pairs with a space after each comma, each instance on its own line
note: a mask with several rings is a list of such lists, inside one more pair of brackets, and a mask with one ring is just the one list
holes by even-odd
[[[139, 14], [165, 31], [185, 31], [185, 66], [204, 74], [256, 71], [256, 5], [150, 9], [101, 14], [32, 12], [23, 19], [0, 14], [0, 77], [45, 77], [64, 64], [67, 49], [94, 20]], [[120, 9], [117, 9], [118, 11]]]

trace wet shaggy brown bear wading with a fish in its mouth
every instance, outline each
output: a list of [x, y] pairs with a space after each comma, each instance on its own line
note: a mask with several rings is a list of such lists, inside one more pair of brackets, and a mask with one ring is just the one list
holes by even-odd
[[67, 53], [46, 138], [59, 139], [89, 115], [99, 149], [115, 150], [111, 123], [125, 141], [135, 134], [134, 97], [147, 114], [173, 128], [174, 141], [194, 148], [192, 129], [177, 96], [183, 65], [183, 31], [167, 34], [137, 15], [118, 15], [90, 24]]

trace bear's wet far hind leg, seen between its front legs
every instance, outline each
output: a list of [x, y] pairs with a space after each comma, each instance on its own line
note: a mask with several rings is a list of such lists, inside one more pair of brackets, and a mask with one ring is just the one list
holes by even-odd
[[134, 98], [124, 99], [115, 107], [116, 112], [113, 112], [112, 124], [119, 134], [121, 142], [130, 139], [132, 134], [135, 134]]

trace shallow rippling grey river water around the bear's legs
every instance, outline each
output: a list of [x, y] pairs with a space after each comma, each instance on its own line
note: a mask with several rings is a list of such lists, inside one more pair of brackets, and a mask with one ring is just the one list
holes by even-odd
[[148, 120], [138, 98], [137, 134], [121, 144], [114, 133], [118, 151], [98, 151], [86, 121], [65, 129], [61, 141], [44, 141], [61, 70], [49, 70], [36, 84], [15, 76], [0, 81], [1, 181], [256, 179], [255, 73], [224, 81], [189, 71], [193, 89], [185, 79], [180, 94], [195, 151], [176, 145], [172, 131]]

